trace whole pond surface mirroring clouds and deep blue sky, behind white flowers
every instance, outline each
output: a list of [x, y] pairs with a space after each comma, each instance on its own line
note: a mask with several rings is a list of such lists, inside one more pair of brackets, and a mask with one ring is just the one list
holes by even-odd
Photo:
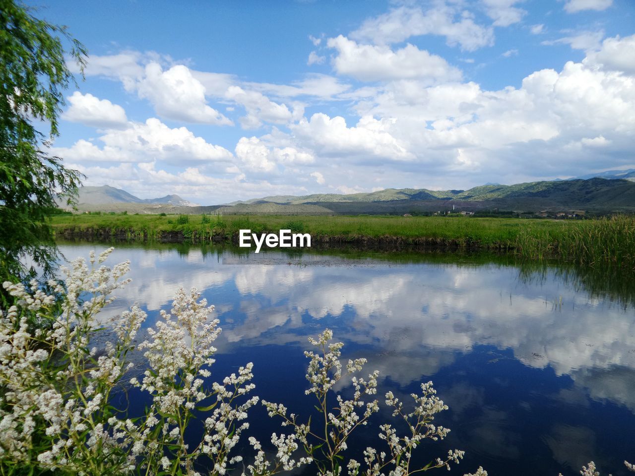
[[[62, 251], [72, 258], [91, 248]], [[306, 338], [324, 327], [347, 344], [345, 357], [368, 357], [385, 390], [406, 396], [433, 380], [450, 406], [439, 422], [453, 430], [447, 447], [467, 452], [452, 474], [478, 465], [492, 476], [577, 474], [594, 459], [618, 475], [635, 459], [635, 312], [552, 272], [526, 281], [496, 264], [290, 261], [197, 248], [116, 249], [109, 263], [126, 259], [133, 282], [109, 313], [138, 302], [152, 322], [179, 286], [196, 286], [224, 329], [217, 378], [253, 360], [265, 399], [300, 398]]]

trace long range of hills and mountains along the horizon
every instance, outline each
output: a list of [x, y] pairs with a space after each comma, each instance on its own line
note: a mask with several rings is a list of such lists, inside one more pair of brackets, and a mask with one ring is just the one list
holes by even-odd
[[127, 210], [133, 213], [275, 215], [403, 214], [488, 209], [529, 213], [544, 210], [635, 213], [635, 169], [606, 171], [601, 175], [515, 185], [490, 183], [469, 190], [385, 188], [358, 194], [271, 195], [215, 206], [197, 206], [178, 195], [140, 199], [125, 190], [104, 185], [81, 187], [78, 208], [82, 211]]

